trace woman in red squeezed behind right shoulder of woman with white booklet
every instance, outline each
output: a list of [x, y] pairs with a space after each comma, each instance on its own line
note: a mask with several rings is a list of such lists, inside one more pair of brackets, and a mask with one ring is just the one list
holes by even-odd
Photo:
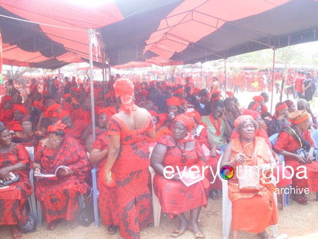
[[[217, 145], [213, 141], [211, 135], [207, 133], [206, 124], [201, 122], [201, 116], [197, 111], [186, 112], [185, 115], [194, 121], [194, 127], [191, 130], [193, 138], [196, 139], [202, 147], [205, 147], [205, 149], [209, 151], [204, 152], [203, 150], [205, 154], [206, 165], [211, 166], [213, 172], [217, 172], [218, 161], [221, 155], [220, 153], [217, 153]], [[207, 179], [209, 182], [213, 182], [210, 183], [208, 187], [209, 196], [213, 200], [216, 200], [219, 193], [218, 190], [222, 190], [222, 182], [218, 177], [214, 178], [211, 170], [207, 170]]]

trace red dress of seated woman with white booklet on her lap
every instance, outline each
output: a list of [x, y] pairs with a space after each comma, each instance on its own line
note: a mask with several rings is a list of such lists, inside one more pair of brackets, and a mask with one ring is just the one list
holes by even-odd
[[[177, 172], [176, 166], [182, 172], [184, 166], [190, 167], [197, 164], [200, 161], [199, 158], [203, 156], [202, 147], [196, 140], [194, 150], [184, 151], [186, 157], [184, 163], [181, 161], [182, 152], [176, 147], [171, 136], [161, 137], [158, 139], [157, 144], [167, 146], [163, 166], [172, 166], [175, 172]], [[171, 218], [174, 215], [205, 206], [207, 203], [202, 181], [187, 187], [182, 181], [170, 180], [156, 173], [153, 179], [153, 189], [159, 199], [162, 211], [169, 213]]]

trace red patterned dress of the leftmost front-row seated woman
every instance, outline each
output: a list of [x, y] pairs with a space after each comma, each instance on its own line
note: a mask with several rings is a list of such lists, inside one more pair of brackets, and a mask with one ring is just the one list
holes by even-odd
[[19, 182], [11, 184], [8, 189], [0, 190], [0, 225], [23, 224], [28, 218], [25, 202], [32, 194], [28, 169], [30, 157], [22, 145], [17, 145], [6, 154], [0, 153], [0, 169], [16, 163], [22, 163], [27, 168], [13, 172], [19, 174]]

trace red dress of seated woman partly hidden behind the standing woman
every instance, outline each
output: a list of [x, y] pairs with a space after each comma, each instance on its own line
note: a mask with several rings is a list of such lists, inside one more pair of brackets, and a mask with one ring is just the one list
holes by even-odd
[[[109, 148], [110, 139], [107, 132], [96, 136], [92, 149], [106, 150]], [[100, 172], [106, 164], [107, 158], [102, 159], [97, 165], [98, 210], [104, 225], [119, 225], [117, 187], [107, 187], [100, 179]]]

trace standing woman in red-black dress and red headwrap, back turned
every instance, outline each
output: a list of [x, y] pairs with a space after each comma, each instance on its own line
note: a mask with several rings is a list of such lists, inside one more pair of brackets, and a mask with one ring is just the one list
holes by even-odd
[[148, 188], [150, 165], [145, 136], [154, 137], [150, 113], [134, 104], [134, 85], [129, 79], [114, 84], [119, 112], [108, 124], [110, 148], [104, 168], [105, 177], [116, 174], [120, 236], [140, 238], [140, 229], [153, 222]]

